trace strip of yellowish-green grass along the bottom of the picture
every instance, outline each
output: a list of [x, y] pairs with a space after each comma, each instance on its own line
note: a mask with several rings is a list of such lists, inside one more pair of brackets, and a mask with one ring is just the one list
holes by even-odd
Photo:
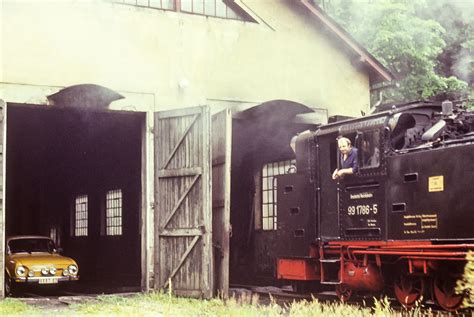
[[[273, 299], [267, 305], [258, 304], [258, 296], [228, 300], [198, 300], [180, 298], [163, 292], [136, 294], [129, 297], [103, 295], [94, 300], [65, 308], [37, 308], [18, 299], [0, 302], [0, 316], [401, 316], [387, 299], [376, 300], [373, 307], [358, 307], [342, 303], [294, 301], [278, 305]], [[405, 311], [403, 316], [422, 316], [420, 309]]]

